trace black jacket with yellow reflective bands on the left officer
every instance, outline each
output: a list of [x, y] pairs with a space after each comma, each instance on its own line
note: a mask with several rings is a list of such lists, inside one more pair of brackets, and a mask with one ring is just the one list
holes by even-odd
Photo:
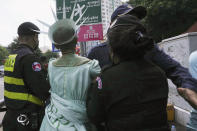
[[5, 62], [4, 98], [8, 110], [36, 112], [49, 97], [49, 82], [38, 57], [20, 45]]

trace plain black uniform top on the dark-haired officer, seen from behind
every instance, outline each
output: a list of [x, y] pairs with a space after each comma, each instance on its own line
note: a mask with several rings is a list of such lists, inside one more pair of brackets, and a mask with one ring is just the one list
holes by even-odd
[[107, 131], [169, 131], [165, 73], [146, 60], [105, 69], [88, 91], [87, 114]]

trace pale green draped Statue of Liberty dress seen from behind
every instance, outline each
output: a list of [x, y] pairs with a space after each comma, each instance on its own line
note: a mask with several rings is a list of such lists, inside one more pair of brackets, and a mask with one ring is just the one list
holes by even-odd
[[[40, 131], [86, 131], [86, 95], [100, 73], [98, 61], [69, 54], [49, 62], [51, 103], [45, 109]], [[90, 129], [94, 130], [94, 129]]]

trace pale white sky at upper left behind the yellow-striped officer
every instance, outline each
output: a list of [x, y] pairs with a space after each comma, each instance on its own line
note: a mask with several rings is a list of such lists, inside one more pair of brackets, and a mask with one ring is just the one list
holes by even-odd
[[[8, 46], [17, 37], [18, 26], [26, 21], [33, 22], [42, 31], [47, 31], [47, 27], [40, 24], [37, 19], [52, 24], [55, 20], [51, 7], [55, 11], [55, 0], [1, 0], [0, 45]], [[39, 47], [43, 46], [51, 48], [51, 43], [47, 35], [41, 34]]]

